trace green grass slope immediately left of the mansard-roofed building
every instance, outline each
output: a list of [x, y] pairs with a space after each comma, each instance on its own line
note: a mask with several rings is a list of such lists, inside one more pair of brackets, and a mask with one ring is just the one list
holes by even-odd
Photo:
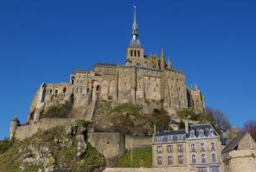
[[131, 151], [126, 151], [125, 156], [118, 160], [118, 168], [150, 168], [152, 167], [152, 150], [151, 149], [140, 149], [133, 150], [132, 161]]

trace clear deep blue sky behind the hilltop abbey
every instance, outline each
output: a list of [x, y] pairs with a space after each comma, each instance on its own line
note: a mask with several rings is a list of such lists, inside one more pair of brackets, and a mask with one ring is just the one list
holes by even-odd
[[235, 126], [256, 117], [256, 3], [223, 0], [0, 2], [0, 138], [27, 118], [42, 82], [67, 82], [75, 69], [123, 63], [133, 4], [146, 54], [164, 48], [206, 105]]

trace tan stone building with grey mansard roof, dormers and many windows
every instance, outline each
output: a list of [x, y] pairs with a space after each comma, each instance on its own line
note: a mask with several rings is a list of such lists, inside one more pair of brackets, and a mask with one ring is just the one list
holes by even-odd
[[187, 171], [220, 172], [220, 136], [211, 124], [185, 124], [182, 131], [160, 131], [153, 138], [153, 167], [187, 167]]

